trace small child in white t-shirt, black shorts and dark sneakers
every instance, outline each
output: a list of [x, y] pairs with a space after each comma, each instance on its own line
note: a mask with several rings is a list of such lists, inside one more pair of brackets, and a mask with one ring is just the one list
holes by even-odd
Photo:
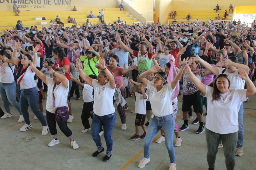
[[[147, 100], [147, 94], [146, 94], [146, 87], [145, 85], [141, 83], [136, 83], [138, 86], [138, 92], [133, 92], [133, 86], [134, 83], [131, 82], [131, 90], [130, 94], [136, 96], [135, 100], [135, 113], [136, 113], [136, 119], [135, 119], [135, 134], [130, 138], [130, 140], [139, 140], [146, 137], [147, 129], [144, 125], [145, 119], [146, 119], [146, 100]], [[144, 133], [143, 135], [139, 135], [140, 132], [140, 126], [142, 127]]]

